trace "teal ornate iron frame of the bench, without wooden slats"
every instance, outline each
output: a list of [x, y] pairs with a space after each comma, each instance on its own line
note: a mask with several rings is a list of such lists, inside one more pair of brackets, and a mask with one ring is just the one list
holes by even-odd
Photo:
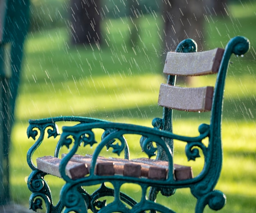
[[[225, 78], [231, 54], [243, 55], [249, 49], [249, 40], [245, 37], [234, 37], [229, 41], [220, 64], [217, 75], [217, 81], [213, 94], [213, 106], [211, 111], [210, 124], [201, 124], [198, 127], [198, 136], [188, 137], [173, 134], [172, 132], [172, 111], [164, 108], [163, 118], [153, 119], [153, 128], [132, 125], [126, 123], [113, 123], [85, 117], [57, 117], [41, 120], [30, 120], [27, 129], [27, 136], [32, 137], [36, 142], [27, 153], [27, 162], [32, 169], [28, 179], [28, 187], [32, 192], [30, 197], [31, 209], [36, 211], [40, 209], [43, 200], [47, 206], [47, 212], [64, 213], [87, 212], [122, 212], [122, 213], [140, 213], [150, 210], [163, 213], [173, 213], [174, 211], [155, 202], [157, 193], [160, 191], [163, 195], [169, 196], [175, 192], [175, 189], [190, 188], [191, 193], [197, 198], [195, 207], [196, 213], [202, 213], [204, 207], [209, 205], [213, 210], [222, 209], [226, 203], [226, 197], [221, 191], [214, 187], [218, 182], [222, 167], [222, 143], [221, 143], [221, 122], [222, 122], [222, 102], [225, 86]], [[176, 51], [191, 52], [196, 51], [195, 42], [186, 40]], [[175, 84], [175, 77], [169, 77], [169, 83]], [[57, 137], [57, 121], [76, 121], [79, 124], [63, 127], [63, 133], [56, 145], [54, 156], [58, 157], [61, 147], [69, 148], [68, 154], [62, 158], [59, 171], [66, 184], [63, 186], [60, 194], [60, 200], [56, 206], [52, 203], [51, 191], [44, 180], [46, 173], [39, 171], [32, 163], [31, 157], [34, 151], [44, 140], [44, 134], [48, 137]], [[97, 141], [93, 130], [101, 129], [103, 134], [101, 141]], [[38, 135], [39, 132], [39, 135]], [[147, 178], [136, 178], [128, 176], [98, 176], [94, 174], [97, 157], [103, 149], [111, 149], [117, 156], [125, 153], [125, 158], [129, 159], [128, 143], [124, 138], [126, 134], [137, 134], [141, 136], [140, 145], [142, 150], [148, 155], [155, 155], [157, 159], [168, 161], [168, 178], [166, 180], [152, 180]], [[204, 138], [208, 138], [208, 146], [202, 143]], [[204, 167], [200, 174], [187, 180], [174, 180], [173, 178], [173, 140], [179, 140], [186, 143], [185, 154], [188, 160], [195, 160], [199, 156], [199, 149], [204, 156]], [[157, 144], [153, 147], [152, 142]], [[88, 149], [95, 147], [92, 155], [90, 175], [76, 180], [70, 179], [65, 174], [67, 162], [76, 154], [79, 147]], [[113, 189], [106, 187], [105, 182], [110, 182]], [[141, 200], [139, 202], [122, 193], [120, 188], [125, 183], [138, 184], [142, 189]], [[100, 184], [99, 189], [89, 194], [86, 186]], [[146, 199], [147, 189], [151, 187]], [[112, 196], [114, 201], [110, 204], [106, 200], [99, 198]], [[130, 208], [127, 208], [130, 206]], [[64, 208], [65, 207], [65, 208]]]

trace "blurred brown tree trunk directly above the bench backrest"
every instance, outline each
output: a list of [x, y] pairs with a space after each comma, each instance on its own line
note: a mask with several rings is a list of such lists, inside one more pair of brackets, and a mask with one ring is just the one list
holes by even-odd
[[202, 49], [204, 42], [203, 0], [162, 0], [164, 19], [164, 50], [175, 50], [177, 44], [192, 38]]

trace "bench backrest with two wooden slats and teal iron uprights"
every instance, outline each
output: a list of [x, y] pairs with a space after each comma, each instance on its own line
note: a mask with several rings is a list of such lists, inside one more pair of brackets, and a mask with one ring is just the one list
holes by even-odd
[[[173, 132], [173, 109], [192, 112], [211, 111], [211, 131], [215, 131], [214, 134], [220, 137], [222, 100], [229, 59], [231, 54], [236, 51], [238, 55], [243, 54], [244, 50], [240, 50], [239, 45], [236, 44], [239, 44], [239, 42], [245, 43], [246, 41], [244, 37], [235, 37], [229, 41], [225, 50], [216, 48], [197, 53], [196, 43], [187, 39], [179, 44], [175, 52], [168, 52], [164, 64], [164, 73], [168, 75], [168, 80], [166, 84], [161, 84], [158, 99], [158, 104], [164, 107], [163, 118], [154, 119], [153, 126]], [[246, 46], [248, 49], [249, 42], [247, 41], [247, 43], [243, 47]], [[238, 48], [235, 49], [234, 47]], [[214, 88], [212, 86], [200, 88], [175, 86], [176, 76], [199, 76], [216, 73], [218, 75]], [[173, 151], [173, 140], [166, 139], [166, 143]], [[166, 156], [160, 151], [157, 159], [166, 160]]]

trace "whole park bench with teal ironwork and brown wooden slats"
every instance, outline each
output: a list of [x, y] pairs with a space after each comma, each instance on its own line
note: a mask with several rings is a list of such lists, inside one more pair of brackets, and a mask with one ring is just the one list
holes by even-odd
[[[153, 128], [126, 123], [114, 123], [86, 117], [56, 117], [29, 120], [27, 136], [36, 142], [27, 153], [27, 162], [32, 172], [28, 178], [28, 188], [32, 192], [30, 208], [36, 211], [44, 200], [47, 212], [174, 212], [156, 202], [157, 194], [170, 196], [176, 189], [190, 188], [197, 198], [195, 212], [201, 213], [208, 204], [213, 210], [222, 209], [226, 197], [214, 187], [218, 182], [222, 167], [221, 122], [225, 77], [232, 53], [243, 55], [249, 49], [249, 40], [234, 37], [225, 50], [216, 48], [211, 51], [196, 52], [197, 45], [191, 40], [181, 42], [175, 52], [168, 52], [164, 73], [168, 75], [167, 84], [161, 84], [158, 104], [163, 107], [163, 117], [152, 121]], [[215, 87], [181, 88], [175, 86], [175, 77], [217, 74]], [[198, 127], [198, 136], [189, 137], [173, 134], [173, 110], [207, 112], [211, 110], [209, 124]], [[64, 126], [54, 155], [36, 159], [32, 162], [34, 151], [40, 146], [47, 132], [48, 137], [57, 137], [58, 121], [75, 121], [79, 124]], [[97, 132], [101, 130], [101, 139]], [[38, 135], [39, 132], [39, 135]], [[139, 141], [126, 141], [128, 134], [139, 135]], [[125, 136], [124, 136], [125, 135]], [[208, 140], [208, 144], [202, 140]], [[176, 165], [173, 162], [173, 141], [186, 144], [184, 154], [188, 160], [204, 155], [202, 171], [193, 177], [192, 168]], [[148, 158], [130, 159], [129, 144], [140, 143]], [[61, 147], [69, 148], [62, 154]], [[92, 155], [79, 155], [77, 151], [94, 148]], [[115, 157], [101, 156], [104, 149], [112, 150]], [[124, 159], [120, 158], [120, 154]], [[156, 154], [157, 153], [157, 154]], [[156, 156], [155, 159], [151, 157]], [[118, 158], [119, 157], [119, 158]], [[52, 202], [51, 191], [44, 177], [53, 175], [63, 178], [65, 184], [56, 206]], [[106, 186], [113, 185], [113, 189]], [[141, 200], [135, 200], [120, 188], [125, 183], [135, 183], [141, 187]], [[89, 194], [87, 186], [100, 184]], [[147, 189], [150, 190], [147, 194]], [[147, 195], [147, 196], [146, 196]], [[107, 203], [99, 198], [114, 197]], [[173, 195], [175, 196], [175, 195]], [[40, 198], [39, 198], [40, 197]], [[146, 197], [148, 197], [146, 199]]]

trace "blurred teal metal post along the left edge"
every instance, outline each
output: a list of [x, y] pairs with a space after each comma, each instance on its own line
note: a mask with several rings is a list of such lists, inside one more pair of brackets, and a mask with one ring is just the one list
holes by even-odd
[[0, 0], [0, 205], [10, 202], [9, 147], [29, 0]]

